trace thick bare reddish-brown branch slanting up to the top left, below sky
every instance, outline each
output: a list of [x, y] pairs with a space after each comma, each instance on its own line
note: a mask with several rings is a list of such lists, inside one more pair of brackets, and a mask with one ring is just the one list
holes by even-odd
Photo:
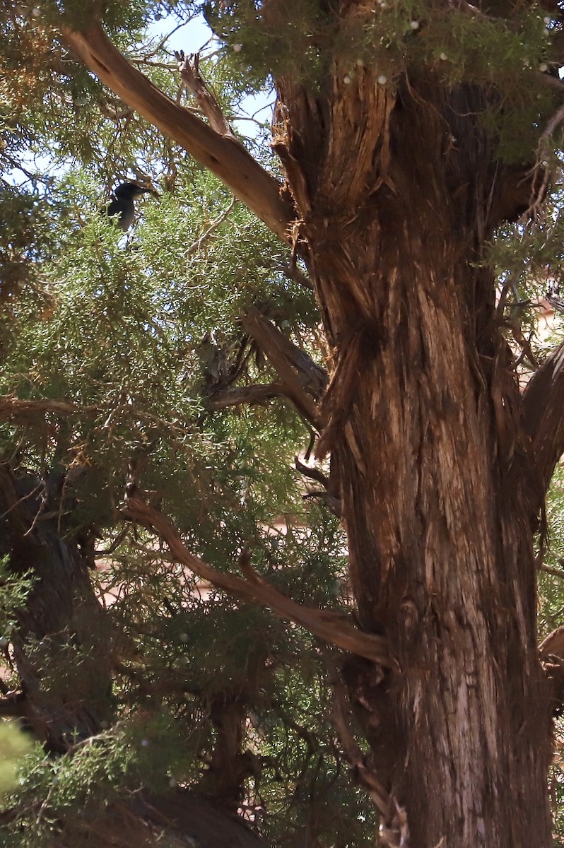
[[277, 236], [288, 240], [293, 207], [281, 197], [280, 184], [239, 142], [215, 132], [161, 92], [129, 64], [98, 23], [89, 25], [84, 32], [64, 28], [62, 34], [68, 46], [104, 85], [191, 153]]

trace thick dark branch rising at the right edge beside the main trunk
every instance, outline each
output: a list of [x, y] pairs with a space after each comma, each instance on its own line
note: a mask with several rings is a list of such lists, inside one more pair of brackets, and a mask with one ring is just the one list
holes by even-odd
[[539, 504], [564, 453], [564, 344], [535, 371], [523, 393], [523, 425], [539, 471]]

